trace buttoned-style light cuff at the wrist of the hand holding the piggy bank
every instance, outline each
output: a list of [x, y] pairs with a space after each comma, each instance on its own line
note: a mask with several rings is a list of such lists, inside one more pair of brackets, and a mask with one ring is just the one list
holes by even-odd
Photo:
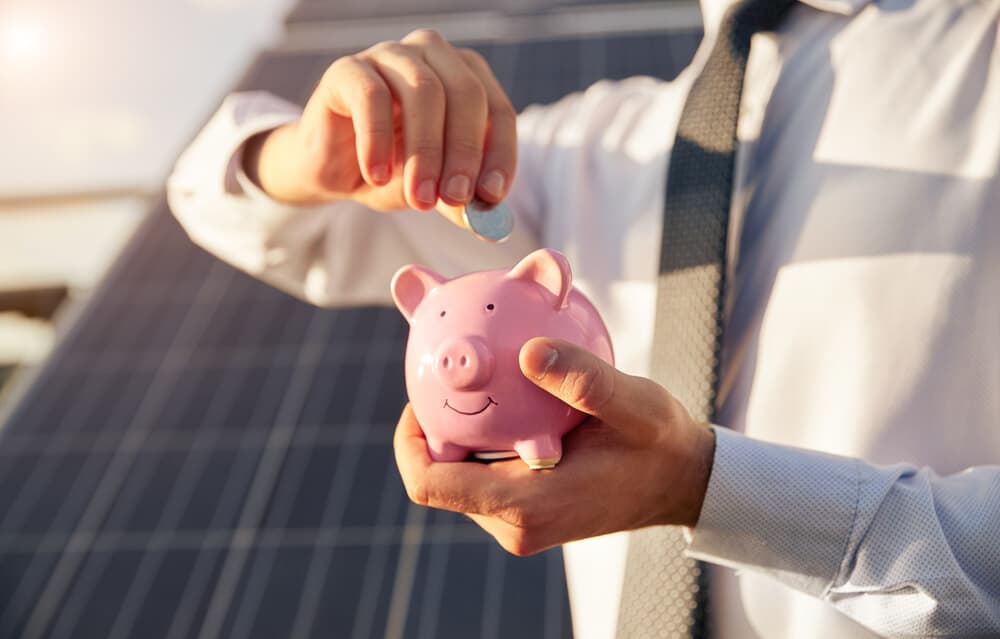
[[860, 462], [714, 430], [712, 476], [688, 554], [822, 596], [854, 526]]

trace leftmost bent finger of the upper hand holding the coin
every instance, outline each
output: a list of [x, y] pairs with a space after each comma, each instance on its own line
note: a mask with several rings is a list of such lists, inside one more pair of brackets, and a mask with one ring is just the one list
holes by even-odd
[[334, 116], [349, 118], [361, 176], [371, 186], [392, 179], [392, 92], [367, 61], [347, 56], [334, 62], [321, 81], [326, 108]]

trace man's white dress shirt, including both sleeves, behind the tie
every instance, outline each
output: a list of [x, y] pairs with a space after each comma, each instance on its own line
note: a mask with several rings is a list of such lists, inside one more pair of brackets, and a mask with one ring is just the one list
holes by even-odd
[[[239, 150], [299, 107], [261, 93], [228, 98], [182, 156], [173, 210], [322, 305], [388, 303], [407, 262], [457, 275], [558, 248], [618, 367], [646, 374], [667, 159], [726, 4], [705, 0], [706, 41], [675, 81], [521, 115], [509, 243], [434, 214], [269, 200]], [[718, 636], [1000, 636], [1000, 2], [803, 0], [754, 37], [738, 131], [732, 431], [690, 546], [737, 569], [715, 571]], [[566, 547], [577, 637], [614, 636], [626, 549]]]

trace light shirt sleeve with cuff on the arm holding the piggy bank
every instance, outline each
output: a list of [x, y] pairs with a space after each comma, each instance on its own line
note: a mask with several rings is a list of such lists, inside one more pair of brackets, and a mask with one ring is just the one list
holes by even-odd
[[941, 477], [716, 428], [688, 552], [891, 637], [1000, 633], [1000, 466]]

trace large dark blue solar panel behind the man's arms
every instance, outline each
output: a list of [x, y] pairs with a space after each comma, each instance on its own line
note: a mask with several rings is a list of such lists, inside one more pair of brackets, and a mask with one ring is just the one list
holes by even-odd
[[[480, 47], [513, 102], [672, 77], [697, 33]], [[241, 88], [303, 101], [330, 55]], [[394, 309], [324, 310], [161, 204], [0, 436], [0, 637], [568, 637], [561, 553], [408, 502]]]

